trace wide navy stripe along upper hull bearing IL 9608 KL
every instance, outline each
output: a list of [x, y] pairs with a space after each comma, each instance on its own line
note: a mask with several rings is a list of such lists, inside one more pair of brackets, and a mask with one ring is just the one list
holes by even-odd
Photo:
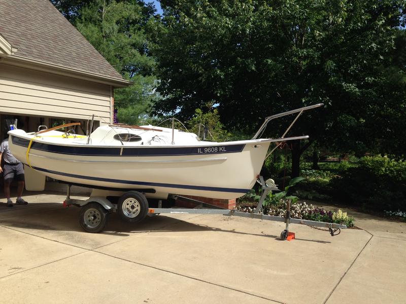
[[[12, 136], [13, 144], [28, 147], [29, 140]], [[41, 150], [51, 153], [81, 155], [81, 156], [181, 156], [181, 155], [213, 155], [225, 153], [239, 153], [244, 149], [245, 144], [231, 145], [211, 145], [211, 146], [187, 146], [187, 147], [92, 147], [92, 146], [69, 146], [41, 143], [33, 141], [31, 149]]]

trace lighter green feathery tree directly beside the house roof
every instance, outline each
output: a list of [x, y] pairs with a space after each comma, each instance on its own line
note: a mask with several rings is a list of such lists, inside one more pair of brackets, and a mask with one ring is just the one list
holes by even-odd
[[54, 1], [93, 47], [133, 85], [115, 90], [118, 120], [137, 124], [154, 102], [155, 61], [148, 36], [154, 8], [137, 0]]

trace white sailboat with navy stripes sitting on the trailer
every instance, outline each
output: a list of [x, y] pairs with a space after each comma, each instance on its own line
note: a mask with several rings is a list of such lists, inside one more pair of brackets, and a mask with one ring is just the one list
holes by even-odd
[[[87, 136], [58, 131], [79, 124], [73, 123], [30, 133], [9, 131], [9, 148], [25, 166], [70, 184], [133, 189], [157, 199], [169, 194], [234, 199], [249, 192], [278, 145], [308, 138], [285, 135], [304, 110], [322, 105], [269, 116], [249, 140], [206, 141], [159, 126], [105, 125]], [[281, 137], [258, 138], [269, 121], [294, 113], [296, 118]], [[272, 143], [276, 146], [268, 152]]]

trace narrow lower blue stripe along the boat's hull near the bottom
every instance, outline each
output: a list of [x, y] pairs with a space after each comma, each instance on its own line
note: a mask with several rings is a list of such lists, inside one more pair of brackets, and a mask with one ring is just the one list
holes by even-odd
[[[121, 184], [131, 184], [131, 185], [142, 185], [142, 186], [156, 186], [156, 187], [166, 187], [166, 188], [179, 188], [179, 189], [192, 189], [192, 190], [202, 190], [202, 191], [216, 191], [216, 192], [231, 192], [231, 193], [247, 193], [250, 189], [240, 189], [240, 188], [222, 188], [222, 187], [207, 187], [207, 186], [194, 186], [194, 185], [181, 185], [181, 184], [170, 184], [170, 183], [160, 183], [160, 182], [147, 182], [147, 181], [135, 181], [135, 180], [122, 180], [104, 177], [94, 177], [94, 176], [83, 176], [71, 173], [58, 172], [53, 170], [48, 170], [44, 168], [32, 167], [35, 170], [42, 171], [45, 173], [56, 174], [60, 176], [67, 176], [73, 178], [87, 179], [87, 180], [97, 180], [104, 182], [114, 182]], [[89, 185], [91, 186], [91, 185]], [[119, 188], [118, 188], [119, 189]]]

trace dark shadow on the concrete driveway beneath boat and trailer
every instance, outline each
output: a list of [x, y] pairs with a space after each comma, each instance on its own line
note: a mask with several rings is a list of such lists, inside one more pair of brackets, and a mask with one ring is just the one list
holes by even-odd
[[[75, 206], [64, 208], [60, 203], [29, 203], [27, 206], [15, 205], [12, 208], [7, 207], [6, 203], [0, 203], [0, 224], [14, 229], [83, 232], [81, 226], [79, 225], [79, 214], [80, 208]], [[190, 223], [186, 220], [165, 215], [158, 215], [153, 217], [147, 216], [140, 223], [127, 223], [123, 221], [117, 213], [108, 214], [106, 227], [100, 234], [126, 237], [146, 232], [171, 233], [193, 231], [213, 231], [251, 235], [273, 238], [280, 241], [280, 236], [270, 235], [263, 232], [248, 233], [235, 231], [234, 229], [227, 230], [220, 227], [215, 227], [214, 225]], [[326, 241], [309, 239], [296, 240], [317, 243], [330, 243]]]

